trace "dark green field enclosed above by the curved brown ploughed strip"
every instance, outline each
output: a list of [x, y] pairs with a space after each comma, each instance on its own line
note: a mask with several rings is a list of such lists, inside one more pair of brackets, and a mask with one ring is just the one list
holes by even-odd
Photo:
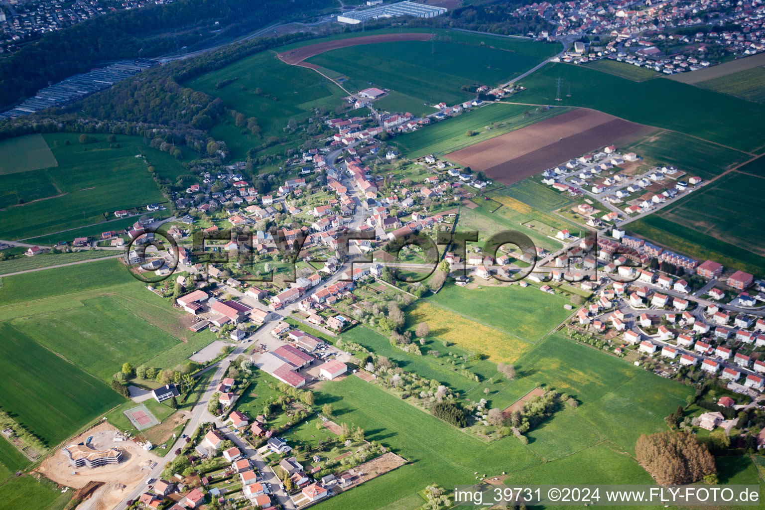
[[[396, 41], [364, 44], [327, 51], [307, 61], [348, 76], [343, 83], [351, 92], [378, 86], [419, 99], [415, 115], [432, 113], [438, 102], [453, 105], [474, 97], [461, 86], [480, 83], [494, 86], [518, 76], [555, 54], [559, 47], [513, 41], [513, 47], [483, 44], [487, 37], [452, 32], [438, 34], [435, 42]], [[493, 42], [494, 40], [492, 40]], [[508, 44], [503, 41], [504, 44]], [[359, 63], [363, 62], [363, 66]], [[414, 103], [412, 103], [414, 106]]]

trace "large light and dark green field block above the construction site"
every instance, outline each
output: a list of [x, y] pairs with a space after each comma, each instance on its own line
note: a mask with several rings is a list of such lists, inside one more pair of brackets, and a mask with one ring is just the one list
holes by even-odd
[[56, 444], [124, 401], [123, 362], [174, 368], [213, 341], [186, 319], [113, 260], [4, 277], [0, 406]]

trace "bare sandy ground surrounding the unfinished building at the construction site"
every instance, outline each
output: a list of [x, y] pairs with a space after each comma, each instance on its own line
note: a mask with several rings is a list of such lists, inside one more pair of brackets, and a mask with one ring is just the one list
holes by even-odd
[[[101, 466], [93, 469], [74, 468], [67, 460], [66, 453], [59, 449], [41, 463], [38, 471], [61, 486], [82, 489], [89, 482], [104, 482], [96, 489], [90, 499], [83, 503], [83, 510], [107, 510], [118, 504], [149, 473], [148, 466], [158, 460], [158, 456], [138, 447], [132, 440], [114, 441], [115, 427], [106, 422], [86, 430], [79, 437], [73, 437], [67, 444], [77, 444], [93, 436], [93, 448], [106, 449], [115, 447], [122, 450], [123, 460], [119, 464]], [[77, 473], [73, 475], [72, 473]]]

